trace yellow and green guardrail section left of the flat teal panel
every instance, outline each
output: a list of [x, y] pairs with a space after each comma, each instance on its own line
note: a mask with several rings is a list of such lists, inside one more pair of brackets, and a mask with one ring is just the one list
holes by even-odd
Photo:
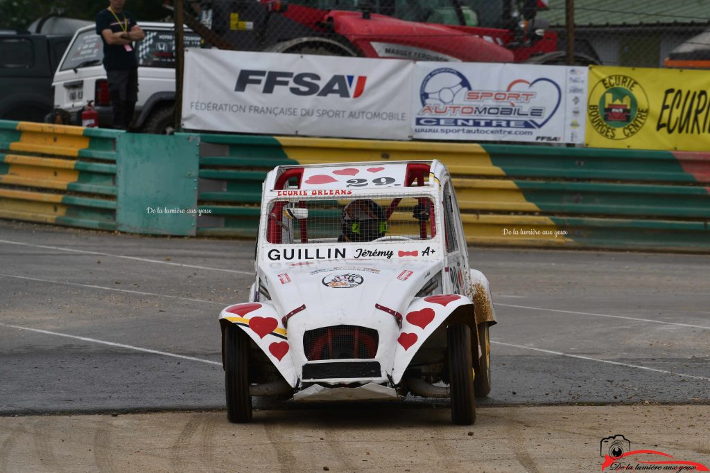
[[0, 121], [0, 218], [115, 230], [119, 135]]

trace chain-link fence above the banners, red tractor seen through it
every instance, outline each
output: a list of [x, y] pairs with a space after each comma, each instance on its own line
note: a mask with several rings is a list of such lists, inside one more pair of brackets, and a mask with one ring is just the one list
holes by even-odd
[[[574, 12], [571, 27], [567, 11]], [[710, 64], [710, 33], [701, 34], [710, 25], [710, 0], [203, 0], [186, 2], [184, 12], [207, 47], [222, 49], [557, 65]], [[572, 58], [567, 38], [573, 38]]]

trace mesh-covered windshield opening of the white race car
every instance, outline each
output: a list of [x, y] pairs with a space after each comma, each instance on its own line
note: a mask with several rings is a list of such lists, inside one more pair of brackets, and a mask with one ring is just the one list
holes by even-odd
[[430, 240], [437, 233], [435, 221], [428, 196], [279, 200], [269, 207], [266, 239], [281, 244]]

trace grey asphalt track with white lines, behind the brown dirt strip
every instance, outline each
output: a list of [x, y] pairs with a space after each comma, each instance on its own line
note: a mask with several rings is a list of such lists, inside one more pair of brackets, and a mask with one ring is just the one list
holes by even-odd
[[[471, 258], [499, 321], [482, 406], [709, 402], [709, 256]], [[217, 313], [251, 274], [253, 243], [0, 221], [0, 413], [224, 408]]]

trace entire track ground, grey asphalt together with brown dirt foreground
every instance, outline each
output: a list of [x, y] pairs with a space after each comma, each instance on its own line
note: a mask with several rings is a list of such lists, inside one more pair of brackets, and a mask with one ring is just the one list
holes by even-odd
[[0, 472], [599, 471], [615, 434], [710, 464], [710, 257], [471, 257], [499, 321], [476, 425], [417, 398], [231, 425], [217, 313], [246, 300], [253, 244], [0, 221]]

